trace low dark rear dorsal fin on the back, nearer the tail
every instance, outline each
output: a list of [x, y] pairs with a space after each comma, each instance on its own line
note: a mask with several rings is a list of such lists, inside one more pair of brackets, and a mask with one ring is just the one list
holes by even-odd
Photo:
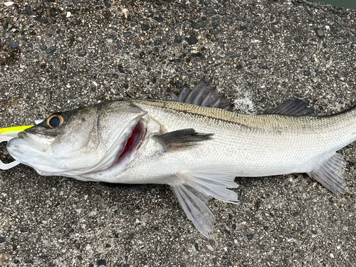
[[277, 108], [273, 108], [266, 114], [286, 115], [286, 116], [315, 116], [314, 108], [308, 108], [308, 104], [300, 99], [290, 99]]

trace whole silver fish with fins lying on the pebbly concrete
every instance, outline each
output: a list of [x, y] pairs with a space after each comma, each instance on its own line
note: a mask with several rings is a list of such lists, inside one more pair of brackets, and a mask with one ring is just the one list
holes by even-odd
[[344, 193], [337, 151], [355, 140], [355, 108], [316, 116], [308, 103], [292, 99], [265, 114], [239, 114], [203, 77], [172, 100], [113, 100], [55, 112], [6, 148], [45, 176], [168, 184], [209, 238], [215, 217], [207, 203], [238, 203], [236, 177], [306, 173]]

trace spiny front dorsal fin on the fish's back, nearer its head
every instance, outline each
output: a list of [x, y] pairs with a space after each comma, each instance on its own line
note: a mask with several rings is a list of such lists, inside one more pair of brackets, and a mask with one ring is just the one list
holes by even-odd
[[201, 78], [199, 83], [197, 83], [192, 90], [184, 87], [179, 96], [172, 93], [172, 100], [200, 105], [202, 107], [223, 108], [226, 110], [231, 107], [225, 96], [219, 95], [217, 92], [216, 87], [213, 85], [213, 78], [210, 78], [206, 82], [205, 77]]

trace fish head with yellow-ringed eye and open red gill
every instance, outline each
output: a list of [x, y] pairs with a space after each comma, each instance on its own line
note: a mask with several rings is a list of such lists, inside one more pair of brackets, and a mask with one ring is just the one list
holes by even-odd
[[56, 112], [20, 132], [6, 148], [41, 175], [85, 179], [115, 165], [122, 154], [135, 153], [145, 135], [140, 121], [146, 113], [129, 101]]

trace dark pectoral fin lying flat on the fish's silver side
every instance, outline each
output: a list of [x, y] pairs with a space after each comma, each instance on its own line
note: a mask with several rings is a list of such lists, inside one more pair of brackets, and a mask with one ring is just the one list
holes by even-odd
[[166, 152], [186, 150], [198, 145], [199, 142], [211, 140], [214, 134], [202, 134], [194, 129], [182, 129], [174, 132], [167, 132], [157, 135], [156, 138], [161, 142]]

